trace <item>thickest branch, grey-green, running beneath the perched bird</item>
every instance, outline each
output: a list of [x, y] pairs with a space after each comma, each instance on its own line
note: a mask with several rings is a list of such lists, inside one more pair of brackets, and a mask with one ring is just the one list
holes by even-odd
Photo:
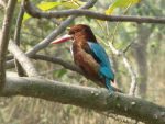
[[1, 95], [41, 98], [124, 115], [147, 124], [165, 123], [165, 108], [124, 94], [113, 93], [109, 95], [105, 89], [64, 84], [36, 78], [8, 77]]

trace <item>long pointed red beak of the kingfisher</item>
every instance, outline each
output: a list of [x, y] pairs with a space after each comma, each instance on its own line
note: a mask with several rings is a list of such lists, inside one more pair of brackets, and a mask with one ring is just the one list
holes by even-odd
[[72, 38], [73, 38], [72, 35], [66, 34], [66, 35], [64, 35], [64, 36], [62, 36], [62, 37], [55, 40], [55, 41], [52, 42], [51, 44], [58, 44], [58, 43], [68, 42], [68, 41], [72, 40]]

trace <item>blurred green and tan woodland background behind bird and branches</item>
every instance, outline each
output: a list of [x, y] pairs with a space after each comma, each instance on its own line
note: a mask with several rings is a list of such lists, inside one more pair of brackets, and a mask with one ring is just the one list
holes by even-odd
[[[54, 4], [56, 2], [56, 5], [48, 8], [50, 10], [76, 9], [86, 2], [80, 0], [31, 1], [42, 10], [45, 8], [44, 5], [42, 7], [44, 2], [54, 2]], [[114, 0], [98, 0], [91, 10], [105, 13], [112, 3], [114, 3]], [[129, 8], [117, 8], [112, 14], [165, 18], [164, 7], [165, 0], [145, 0], [131, 4]], [[19, 10], [20, 2], [16, 4], [12, 32], [15, 29]], [[0, 25], [2, 25], [3, 14], [4, 8], [0, 7]], [[25, 14], [21, 31], [21, 48], [24, 52], [29, 50], [44, 40], [64, 20], [65, 18], [38, 20]], [[107, 44], [112, 42], [113, 46], [119, 50], [125, 49], [131, 44], [125, 55], [138, 75], [136, 97], [165, 105], [165, 25], [105, 22], [82, 16], [77, 18], [70, 25], [79, 23], [90, 25], [97, 40], [106, 48], [111, 57], [119, 88], [123, 89], [125, 93], [129, 92], [131, 84], [130, 74], [123, 64], [122, 57], [114, 55]], [[67, 33], [67, 30], [65, 33]], [[70, 44], [50, 45], [41, 50], [40, 54], [73, 63], [69, 52]], [[59, 65], [40, 60], [33, 60], [33, 63], [45, 78], [57, 80], [62, 83], [98, 88], [82, 76]], [[13, 68], [8, 70], [15, 71]], [[107, 115], [92, 110], [41, 99], [24, 97], [0, 98], [0, 124], [124, 124], [124, 122], [116, 121]]]

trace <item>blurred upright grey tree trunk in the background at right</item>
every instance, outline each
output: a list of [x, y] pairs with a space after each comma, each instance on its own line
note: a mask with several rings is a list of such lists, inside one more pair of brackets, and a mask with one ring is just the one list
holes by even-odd
[[138, 25], [138, 42], [133, 45], [134, 56], [138, 63], [138, 72], [139, 72], [139, 93], [141, 97], [146, 95], [147, 89], [147, 53], [146, 46], [148, 37], [151, 34], [151, 29], [146, 25]]

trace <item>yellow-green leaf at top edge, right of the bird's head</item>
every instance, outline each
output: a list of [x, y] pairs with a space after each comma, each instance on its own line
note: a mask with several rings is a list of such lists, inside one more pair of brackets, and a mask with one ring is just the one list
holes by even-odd
[[116, 0], [109, 8], [106, 10], [106, 14], [111, 14], [117, 8], [128, 8], [129, 5], [139, 3], [141, 0]]

